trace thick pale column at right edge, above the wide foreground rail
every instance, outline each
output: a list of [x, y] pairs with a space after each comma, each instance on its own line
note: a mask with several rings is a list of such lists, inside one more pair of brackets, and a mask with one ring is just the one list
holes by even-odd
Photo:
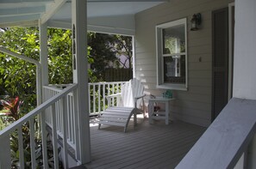
[[[255, 0], [235, 0], [233, 96], [247, 100], [256, 100], [255, 9]], [[256, 168], [256, 136], [248, 152], [247, 168]]]

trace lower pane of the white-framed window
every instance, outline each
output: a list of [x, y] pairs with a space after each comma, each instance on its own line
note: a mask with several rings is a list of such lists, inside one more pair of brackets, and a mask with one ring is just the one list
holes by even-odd
[[164, 57], [164, 83], [185, 84], [185, 55]]

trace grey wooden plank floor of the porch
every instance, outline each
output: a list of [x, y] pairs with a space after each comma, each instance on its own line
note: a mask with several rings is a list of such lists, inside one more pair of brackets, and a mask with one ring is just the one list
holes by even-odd
[[121, 127], [91, 127], [91, 163], [86, 168], [174, 168], [206, 130], [179, 121], [138, 121], [135, 128], [129, 123], [127, 133]]

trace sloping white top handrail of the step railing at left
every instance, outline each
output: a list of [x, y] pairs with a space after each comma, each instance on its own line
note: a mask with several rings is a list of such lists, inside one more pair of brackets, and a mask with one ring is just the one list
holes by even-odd
[[60, 100], [62, 97], [64, 97], [66, 94], [69, 94], [76, 88], [78, 88], [78, 84], [73, 84], [72, 86], [63, 89], [61, 93], [54, 95], [53, 98], [45, 101], [40, 106], [36, 107], [33, 111], [28, 112], [28, 114], [26, 114], [25, 116], [23, 116], [22, 118], [14, 122], [13, 124], [10, 124], [8, 127], [4, 128], [3, 130], [1, 130], [0, 137], [8, 136], [12, 131], [16, 130], [16, 128], [20, 127], [22, 124], [27, 122], [29, 118], [33, 118], [39, 113], [45, 111], [47, 107], [53, 105], [54, 102]]

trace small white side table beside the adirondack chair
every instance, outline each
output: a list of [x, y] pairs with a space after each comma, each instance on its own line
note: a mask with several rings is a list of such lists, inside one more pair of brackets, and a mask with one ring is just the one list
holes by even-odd
[[[163, 97], [157, 97], [148, 100], [148, 117], [149, 117], [149, 124], [153, 124], [153, 119], [165, 119], [165, 124], [169, 124], [169, 113], [170, 113], [170, 102], [172, 99], [167, 99]], [[154, 103], [165, 103], [165, 112], [157, 112], [157, 115], [154, 116], [153, 105]]]

